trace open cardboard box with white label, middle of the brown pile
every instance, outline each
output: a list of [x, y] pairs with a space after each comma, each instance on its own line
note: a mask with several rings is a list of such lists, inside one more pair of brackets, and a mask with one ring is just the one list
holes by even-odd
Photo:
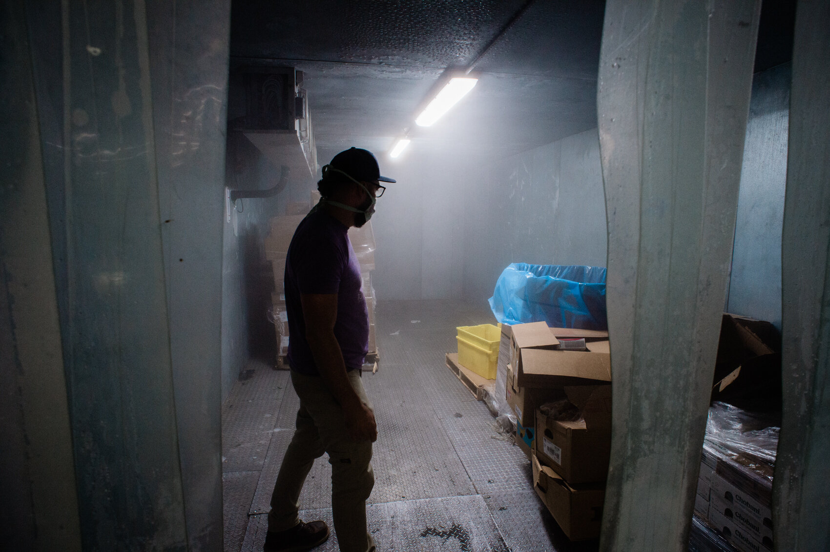
[[611, 457], [611, 386], [567, 387], [583, 420], [563, 422], [536, 413], [536, 453], [571, 485], [603, 482]]

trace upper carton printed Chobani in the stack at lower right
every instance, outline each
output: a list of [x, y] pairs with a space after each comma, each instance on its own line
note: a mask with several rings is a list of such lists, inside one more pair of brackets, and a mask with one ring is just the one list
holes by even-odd
[[760, 503], [717, 473], [711, 480], [710, 504], [710, 509], [716, 510], [745, 534], [772, 550], [774, 537], [769, 504]]

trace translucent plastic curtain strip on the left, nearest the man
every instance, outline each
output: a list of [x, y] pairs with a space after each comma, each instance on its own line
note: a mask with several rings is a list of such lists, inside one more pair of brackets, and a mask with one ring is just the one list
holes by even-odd
[[222, 548], [222, 224], [229, 0], [147, 4], [188, 550]]

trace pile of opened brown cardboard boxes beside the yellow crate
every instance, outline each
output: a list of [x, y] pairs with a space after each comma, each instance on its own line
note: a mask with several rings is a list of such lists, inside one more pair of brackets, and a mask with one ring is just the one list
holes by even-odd
[[[569, 539], [597, 537], [611, 448], [608, 333], [544, 322], [505, 331], [511, 334], [507, 403], [516, 442], [533, 465], [536, 494]], [[558, 401], [579, 410], [577, 421], [540, 408]]]

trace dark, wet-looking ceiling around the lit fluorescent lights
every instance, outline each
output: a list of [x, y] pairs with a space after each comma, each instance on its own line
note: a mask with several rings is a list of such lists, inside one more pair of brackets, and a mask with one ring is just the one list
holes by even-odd
[[[515, 154], [596, 125], [604, 2], [234, 2], [232, 63], [305, 72], [323, 164], [353, 144], [381, 153], [447, 67], [481, 80], [411, 148]], [[496, 42], [486, 51], [486, 46]], [[484, 53], [482, 56], [481, 54]], [[479, 57], [480, 56], [480, 57]]]

